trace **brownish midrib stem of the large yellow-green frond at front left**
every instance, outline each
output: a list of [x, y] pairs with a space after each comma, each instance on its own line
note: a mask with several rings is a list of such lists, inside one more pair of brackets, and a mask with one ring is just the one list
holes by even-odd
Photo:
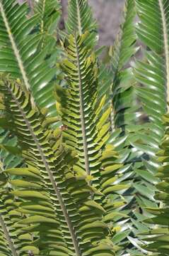
[[66, 210], [66, 206], [64, 205], [64, 200], [62, 199], [62, 196], [61, 196], [61, 193], [59, 191], [59, 188], [57, 187], [57, 183], [54, 181], [54, 176], [53, 176], [52, 171], [51, 171], [51, 169], [49, 167], [49, 164], [48, 164], [48, 161], [47, 161], [47, 159], [45, 157], [43, 149], [40, 146], [40, 143], [39, 143], [35, 133], [33, 132], [33, 128], [31, 127], [31, 124], [30, 124], [29, 120], [27, 119], [27, 117], [25, 115], [25, 112], [23, 111], [23, 109], [21, 107], [20, 102], [18, 102], [16, 96], [13, 95], [13, 92], [12, 92], [10, 87], [8, 87], [8, 92], [11, 94], [11, 97], [13, 97], [13, 100], [16, 102], [16, 105], [18, 106], [18, 110], [21, 112], [21, 115], [22, 115], [22, 117], [23, 117], [23, 119], [25, 121], [25, 124], [28, 127], [28, 130], [29, 130], [31, 136], [33, 137], [35, 145], [37, 146], [37, 150], [39, 151], [39, 154], [40, 154], [40, 157], [42, 159], [42, 162], [43, 162], [43, 164], [45, 166], [45, 169], [47, 171], [49, 179], [50, 179], [50, 181], [52, 183], [52, 187], [54, 188], [54, 192], [56, 193], [58, 201], [59, 201], [59, 204], [60, 204], [60, 206], [62, 208], [62, 212], [64, 214], [64, 218], [66, 220], [66, 224], [68, 225], [69, 232], [71, 234], [71, 240], [72, 240], [72, 242], [74, 244], [74, 250], [76, 252], [76, 256], [81, 256], [81, 250], [78, 247], [78, 241], [76, 240], [76, 234], [74, 232], [74, 228], [73, 228], [73, 225], [71, 223], [71, 219], [69, 218], [69, 214], [68, 214], [68, 212]]

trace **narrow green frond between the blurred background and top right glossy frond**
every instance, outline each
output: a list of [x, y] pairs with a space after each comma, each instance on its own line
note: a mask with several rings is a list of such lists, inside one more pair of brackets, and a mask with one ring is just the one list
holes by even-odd
[[[118, 76], [120, 72], [129, 64], [132, 55], [136, 53], [136, 33], [134, 28], [134, 18], [136, 17], [134, 0], [127, 0], [124, 6], [123, 21], [120, 26], [120, 31], [117, 35], [115, 43], [110, 47], [110, 71], [109, 77], [112, 78], [112, 83], [100, 84], [100, 93], [107, 92], [109, 100], [115, 97], [120, 80]], [[108, 68], [107, 68], [108, 70]], [[122, 89], [121, 89], [122, 90]], [[110, 91], [110, 92], [109, 92]], [[118, 98], [118, 97], [117, 97]], [[112, 110], [113, 116], [113, 110]], [[113, 122], [113, 118], [112, 118]]]

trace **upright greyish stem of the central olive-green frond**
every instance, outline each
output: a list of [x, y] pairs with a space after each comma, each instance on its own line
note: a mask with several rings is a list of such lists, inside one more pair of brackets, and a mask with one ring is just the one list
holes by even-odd
[[81, 66], [80, 66], [80, 59], [79, 59], [78, 44], [76, 41], [76, 36], [75, 36], [75, 43], [76, 43], [78, 79], [79, 79], [80, 114], [81, 114], [81, 129], [82, 129], [82, 136], [83, 136], [83, 150], [84, 150], [86, 173], [89, 175], [90, 168], [89, 168], [89, 161], [88, 161], [88, 143], [87, 143], [87, 138], [86, 138], [86, 125], [85, 125], [85, 117], [84, 117], [84, 110], [83, 110], [84, 102], [83, 102], [83, 92], [82, 92]]

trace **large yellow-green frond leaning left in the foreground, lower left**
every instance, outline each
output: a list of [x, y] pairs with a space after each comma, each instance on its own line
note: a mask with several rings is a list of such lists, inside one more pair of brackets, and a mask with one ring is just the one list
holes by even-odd
[[[107, 225], [102, 220], [104, 210], [91, 199], [95, 189], [88, 185], [81, 174], [74, 175], [65, 161], [64, 149], [56, 145], [57, 142], [49, 143], [50, 132], [43, 129], [44, 117], [37, 108], [32, 107], [29, 93], [25, 95], [21, 85], [7, 81], [1, 82], [1, 92], [5, 95], [4, 105], [7, 117], [10, 116], [8, 121], [10, 123], [11, 120], [13, 127], [17, 128], [13, 132], [26, 150], [24, 156], [29, 164], [26, 169], [8, 169], [8, 174], [19, 177], [11, 181], [16, 186], [13, 194], [21, 198], [18, 211], [29, 215], [21, 224], [30, 224], [30, 230], [39, 233], [35, 245], [39, 245], [40, 254], [47, 255], [57, 248], [58, 256], [91, 256], [102, 252], [114, 255], [112, 242], [107, 237]], [[22, 176], [24, 179], [21, 179]], [[30, 208], [25, 208], [27, 203], [30, 203]], [[37, 204], [40, 207], [47, 206], [49, 210], [42, 208], [40, 215], [40, 210], [35, 210]], [[34, 227], [35, 223], [38, 226]], [[47, 225], [44, 233], [40, 223], [51, 223], [59, 233], [51, 230], [50, 225]], [[43, 239], [48, 235], [52, 237], [49, 242]], [[95, 240], [99, 240], [99, 243], [95, 243]]]

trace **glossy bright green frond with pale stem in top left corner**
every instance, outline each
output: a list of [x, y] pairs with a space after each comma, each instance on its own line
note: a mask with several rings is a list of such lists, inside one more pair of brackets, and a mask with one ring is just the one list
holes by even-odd
[[47, 45], [40, 50], [44, 35], [36, 28], [42, 19], [39, 13], [30, 18], [27, 14], [27, 4], [19, 5], [13, 0], [0, 3], [0, 71], [23, 80], [26, 89], [32, 91], [37, 105], [47, 108], [49, 116], [56, 116], [52, 94], [56, 68], [52, 59], [47, 59], [55, 40], [51, 36], [47, 40], [46, 36]]

